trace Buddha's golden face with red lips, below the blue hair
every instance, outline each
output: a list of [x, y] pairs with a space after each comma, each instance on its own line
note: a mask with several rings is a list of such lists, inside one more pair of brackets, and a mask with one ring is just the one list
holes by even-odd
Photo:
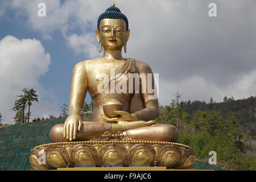
[[105, 50], [121, 50], [129, 39], [130, 30], [126, 31], [123, 19], [102, 19], [99, 28], [100, 30], [96, 30], [96, 36]]

